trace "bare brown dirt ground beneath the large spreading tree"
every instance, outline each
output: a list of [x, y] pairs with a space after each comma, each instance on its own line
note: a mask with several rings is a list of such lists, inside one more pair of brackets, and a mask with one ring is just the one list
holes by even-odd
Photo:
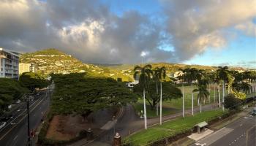
[[55, 115], [49, 123], [46, 138], [67, 141], [78, 137], [80, 131], [89, 128], [97, 135], [101, 132], [99, 128], [111, 120], [114, 113], [116, 109], [99, 110], [89, 115], [87, 122], [83, 122], [80, 115]]

